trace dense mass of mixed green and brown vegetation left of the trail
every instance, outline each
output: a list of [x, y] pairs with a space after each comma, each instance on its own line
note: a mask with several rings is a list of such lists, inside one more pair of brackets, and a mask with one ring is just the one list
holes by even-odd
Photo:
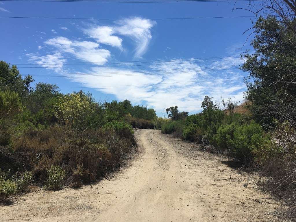
[[34, 183], [79, 187], [114, 170], [135, 145], [133, 128], [160, 128], [155, 110], [97, 102], [83, 91], [22, 78], [0, 62], [0, 201]]

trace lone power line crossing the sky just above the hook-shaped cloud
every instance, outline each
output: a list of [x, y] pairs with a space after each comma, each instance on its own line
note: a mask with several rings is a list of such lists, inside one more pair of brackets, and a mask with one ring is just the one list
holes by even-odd
[[249, 16], [220, 16], [220, 17], [181, 17], [181, 18], [70, 18], [70, 17], [20, 17], [20, 16], [0, 16], [0, 18], [20, 18], [20, 19], [76, 19], [76, 20], [183, 20], [183, 19], [214, 19], [214, 18], [248, 18]]

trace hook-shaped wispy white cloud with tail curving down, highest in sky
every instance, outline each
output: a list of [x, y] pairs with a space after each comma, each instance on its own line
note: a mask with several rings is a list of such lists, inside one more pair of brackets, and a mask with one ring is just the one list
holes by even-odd
[[151, 28], [156, 25], [155, 21], [149, 19], [125, 19], [117, 22], [116, 31], [124, 36], [129, 36], [136, 42], [135, 57], [141, 57], [147, 50], [152, 38]]

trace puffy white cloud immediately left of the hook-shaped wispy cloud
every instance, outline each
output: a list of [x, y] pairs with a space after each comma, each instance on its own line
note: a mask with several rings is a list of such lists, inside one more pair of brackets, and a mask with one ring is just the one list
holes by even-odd
[[114, 29], [110, 26], [92, 27], [85, 29], [84, 33], [89, 35], [89, 37], [94, 38], [98, 43], [107, 44], [122, 49], [122, 39], [113, 35]]

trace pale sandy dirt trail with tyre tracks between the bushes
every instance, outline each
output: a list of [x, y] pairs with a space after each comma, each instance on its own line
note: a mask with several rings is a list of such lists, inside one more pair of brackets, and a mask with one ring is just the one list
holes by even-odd
[[[0, 206], [0, 221], [274, 221], [279, 205], [197, 145], [137, 130], [139, 150], [110, 181], [39, 190]], [[231, 177], [231, 178], [230, 178]], [[252, 199], [248, 199], [252, 198]], [[23, 201], [25, 199], [25, 201]]]

